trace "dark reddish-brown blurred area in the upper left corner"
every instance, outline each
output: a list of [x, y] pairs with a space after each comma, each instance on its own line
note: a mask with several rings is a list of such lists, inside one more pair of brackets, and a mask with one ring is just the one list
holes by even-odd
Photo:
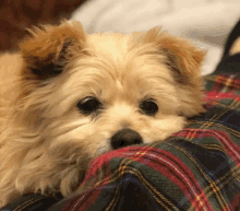
[[26, 27], [70, 19], [85, 0], [0, 0], [0, 50], [17, 48]]

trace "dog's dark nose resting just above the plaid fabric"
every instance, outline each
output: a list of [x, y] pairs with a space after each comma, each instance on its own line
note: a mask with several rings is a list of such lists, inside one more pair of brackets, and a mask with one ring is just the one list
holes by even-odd
[[111, 145], [115, 150], [142, 142], [140, 133], [129, 128], [121, 129], [111, 137]]

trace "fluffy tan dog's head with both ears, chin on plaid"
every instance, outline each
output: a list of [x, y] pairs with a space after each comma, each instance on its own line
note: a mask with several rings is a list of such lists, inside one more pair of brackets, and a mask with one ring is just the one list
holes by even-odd
[[164, 140], [203, 112], [205, 52], [187, 40], [159, 28], [85, 34], [79, 22], [31, 32], [17, 118], [59, 166]]

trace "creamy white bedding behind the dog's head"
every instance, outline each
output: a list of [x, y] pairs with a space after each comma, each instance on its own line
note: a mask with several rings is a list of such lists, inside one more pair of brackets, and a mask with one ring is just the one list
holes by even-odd
[[203, 74], [218, 63], [223, 44], [240, 17], [240, 0], [92, 0], [73, 13], [87, 33], [147, 31], [161, 26], [207, 50]]

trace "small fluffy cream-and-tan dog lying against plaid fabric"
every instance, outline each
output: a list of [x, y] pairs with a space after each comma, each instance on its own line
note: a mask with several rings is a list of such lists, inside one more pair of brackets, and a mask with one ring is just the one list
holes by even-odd
[[204, 110], [205, 52], [160, 28], [85, 34], [64, 21], [31, 34], [0, 57], [0, 206], [68, 196], [96, 156], [164, 140]]

